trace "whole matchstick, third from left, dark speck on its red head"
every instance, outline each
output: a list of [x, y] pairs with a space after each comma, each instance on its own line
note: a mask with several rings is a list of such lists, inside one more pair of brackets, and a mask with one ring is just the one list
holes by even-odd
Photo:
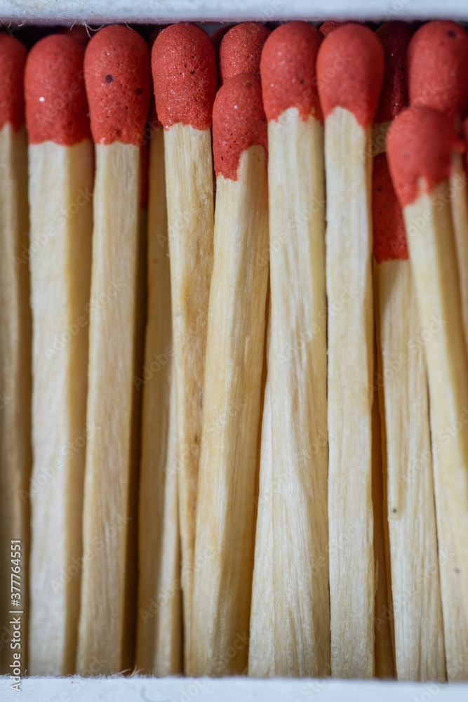
[[118, 673], [133, 664], [135, 573], [131, 540], [135, 303], [140, 144], [151, 74], [149, 48], [128, 27], [94, 35], [85, 55], [96, 151], [83, 577], [77, 669]]

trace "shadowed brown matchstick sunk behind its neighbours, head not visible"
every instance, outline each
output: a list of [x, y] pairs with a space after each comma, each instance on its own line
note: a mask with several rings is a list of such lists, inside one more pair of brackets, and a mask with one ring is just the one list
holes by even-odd
[[164, 140], [155, 111], [150, 124], [148, 317], [145, 365], [135, 379], [144, 388], [136, 666], [162, 676], [182, 671], [182, 602]]

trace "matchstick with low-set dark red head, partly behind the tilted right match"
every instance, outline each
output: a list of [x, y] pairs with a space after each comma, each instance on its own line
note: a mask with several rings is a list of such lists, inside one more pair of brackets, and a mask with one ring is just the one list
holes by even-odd
[[387, 437], [396, 674], [399, 680], [444, 680], [424, 336], [403, 215], [385, 154], [374, 161], [373, 230], [377, 339], [382, 355], [378, 384], [384, 395]]

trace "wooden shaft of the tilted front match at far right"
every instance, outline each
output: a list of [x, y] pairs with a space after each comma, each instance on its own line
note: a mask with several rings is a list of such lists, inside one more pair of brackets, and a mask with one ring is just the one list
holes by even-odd
[[[422, 184], [421, 184], [422, 185]], [[448, 680], [468, 679], [468, 367], [448, 181], [403, 209], [429, 378]]]

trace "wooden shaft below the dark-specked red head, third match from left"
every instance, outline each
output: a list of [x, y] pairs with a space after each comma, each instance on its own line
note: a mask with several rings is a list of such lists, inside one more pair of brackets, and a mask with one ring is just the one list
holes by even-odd
[[[83, 506], [83, 575], [76, 667], [116, 673], [132, 664], [128, 573], [133, 489], [135, 299], [140, 150], [96, 145], [93, 270]], [[130, 543], [129, 543], [130, 541]]]

